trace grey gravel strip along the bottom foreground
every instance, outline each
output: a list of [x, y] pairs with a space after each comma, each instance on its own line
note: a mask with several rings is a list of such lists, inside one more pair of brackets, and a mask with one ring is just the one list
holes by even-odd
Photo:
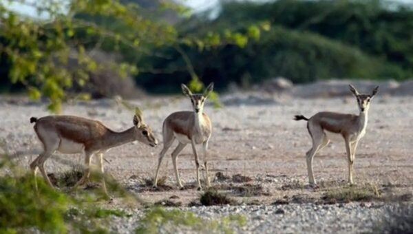
[[[348, 204], [287, 204], [260, 206], [200, 206], [179, 208], [191, 211], [205, 220], [219, 220], [228, 215], [243, 215], [248, 222], [242, 233], [377, 233], [383, 231], [383, 219], [388, 218], [397, 204], [383, 202]], [[112, 219], [112, 231], [129, 233], [136, 228], [142, 210], [128, 210], [131, 217]], [[387, 215], [387, 216], [386, 216]], [[160, 232], [165, 229], [160, 229]], [[206, 232], [207, 233], [207, 232]]]

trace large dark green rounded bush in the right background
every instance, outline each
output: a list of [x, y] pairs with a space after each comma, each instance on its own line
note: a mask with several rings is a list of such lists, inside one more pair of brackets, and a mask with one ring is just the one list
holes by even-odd
[[[195, 72], [221, 88], [231, 82], [249, 87], [275, 76], [295, 83], [413, 76], [413, 10], [388, 1], [222, 1], [216, 19], [195, 15], [178, 28], [184, 35], [207, 35], [225, 28], [253, 33], [254, 28], [242, 26], [262, 22], [271, 25], [269, 31], [257, 34], [259, 40], [246, 40], [242, 47], [185, 47]], [[165, 92], [176, 79], [187, 81], [188, 76], [177, 52], [169, 47], [160, 51], [169, 58], [142, 59], [163, 72], [141, 73], [136, 81]]]

